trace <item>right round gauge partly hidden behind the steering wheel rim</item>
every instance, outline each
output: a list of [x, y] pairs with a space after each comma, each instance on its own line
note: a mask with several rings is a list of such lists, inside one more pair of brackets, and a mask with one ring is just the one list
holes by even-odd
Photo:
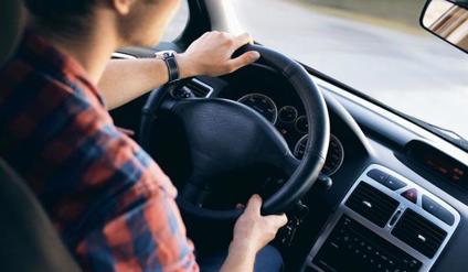
[[[297, 159], [302, 159], [306, 152], [308, 135], [302, 137], [294, 149], [294, 155]], [[331, 176], [341, 167], [344, 160], [344, 149], [341, 141], [333, 134], [330, 135], [330, 145], [328, 148], [327, 160], [325, 162], [322, 174]]]

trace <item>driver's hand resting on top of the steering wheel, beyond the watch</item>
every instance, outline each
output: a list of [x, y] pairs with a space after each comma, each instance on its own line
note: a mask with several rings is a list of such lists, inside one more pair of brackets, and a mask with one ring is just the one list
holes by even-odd
[[260, 54], [254, 51], [232, 58], [237, 48], [251, 41], [247, 33], [233, 35], [217, 31], [206, 32], [185, 53], [177, 56], [181, 77], [221, 76], [257, 61]]

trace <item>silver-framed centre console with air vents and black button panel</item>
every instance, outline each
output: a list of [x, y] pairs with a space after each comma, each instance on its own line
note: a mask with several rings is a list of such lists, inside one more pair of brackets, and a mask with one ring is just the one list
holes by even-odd
[[304, 271], [429, 271], [460, 221], [448, 204], [369, 166], [328, 221]]

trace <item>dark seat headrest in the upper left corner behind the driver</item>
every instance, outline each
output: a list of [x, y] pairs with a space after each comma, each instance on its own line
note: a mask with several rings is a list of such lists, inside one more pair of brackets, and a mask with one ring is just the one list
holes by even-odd
[[0, 65], [14, 52], [25, 25], [21, 0], [0, 1]]

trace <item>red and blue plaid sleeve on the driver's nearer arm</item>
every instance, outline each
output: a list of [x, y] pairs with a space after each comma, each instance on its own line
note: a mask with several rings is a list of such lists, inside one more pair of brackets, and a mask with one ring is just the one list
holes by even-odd
[[[82, 185], [96, 195], [75, 249], [87, 271], [199, 271], [170, 179], [131, 139], [98, 126]], [[94, 152], [97, 149], [99, 152]], [[96, 155], [98, 154], [98, 155]], [[87, 191], [87, 189], [86, 189]], [[94, 192], [89, 191], [89, 192]], [[97, 197], [98, 196], [98, 197]], [[86, 226], [86, 224], [85, 224]]]

